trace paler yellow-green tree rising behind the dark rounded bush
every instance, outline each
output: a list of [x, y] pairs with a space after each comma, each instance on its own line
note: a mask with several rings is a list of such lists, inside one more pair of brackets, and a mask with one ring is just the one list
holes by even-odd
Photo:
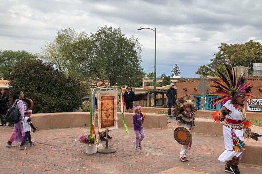
[[90, 59], [92, 41], [84, 31], [76, 33], [71, 28], [62, 29], [57, 32], [54, 42], [49, 42], [41, 49], [40, 57], [55, 64], [65, 74], [79, 79], [90, 76], [87, 73], [90, 68], [86, 64]]

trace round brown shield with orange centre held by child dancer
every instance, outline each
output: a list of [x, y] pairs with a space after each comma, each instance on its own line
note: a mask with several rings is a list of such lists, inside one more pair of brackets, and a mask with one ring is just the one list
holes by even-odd
[[192, 134], [188, 128], [179, 126], [174, 130], [174, 138], [179, 144], [187, 145], [192, 140]]

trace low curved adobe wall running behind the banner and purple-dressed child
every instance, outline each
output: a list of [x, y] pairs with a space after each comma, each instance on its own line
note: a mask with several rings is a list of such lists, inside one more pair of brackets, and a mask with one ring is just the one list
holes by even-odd
[[[118, 127], [124, 127], [122, 113], [118, 112]], [[133, 127], [133, 113], [125, 113], [125, 123], [127, 127]], [[161, 128], [167, 127], [167, 115], [165, 114], [146, 114], [143, 127]], [[66, 127], [89, 126], [89, 112], [65, 112], [50, 114], [32, 114], [32, 122], [39, 130]], [[97, 126], [97, 119], [95, 126]]]

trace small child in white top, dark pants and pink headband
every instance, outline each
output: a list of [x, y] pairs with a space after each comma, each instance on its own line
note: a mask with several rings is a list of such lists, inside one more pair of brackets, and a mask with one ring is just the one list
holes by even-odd
[[30, 116], [32, 115], [32, 110], [30, 109], [27, 109], [25, 111], [25, 116], [23, 118], [23, 133], [25, 133], [25, 136], [24, 136], [24, 139], [23, 141], [21, 142], [20, 146], [19, 146], [19, 150], [24, 150], [26, 149], [26, 147], [24, 147], [24, 143], [25, 141], [27, 140], [28, 138], [28, 141], [30, 143], [30, 146], [34, 146], [36, 145], [36, 142], [33, 142], [31, 140], [31, 135], [30, 135], [30, 131], [31, 131], [31, 128], [34, 130], [33, 133], [36, 131], [37, 127], [34, 127], [32, 122], [31, 122], [31, 119], [30, 119]]

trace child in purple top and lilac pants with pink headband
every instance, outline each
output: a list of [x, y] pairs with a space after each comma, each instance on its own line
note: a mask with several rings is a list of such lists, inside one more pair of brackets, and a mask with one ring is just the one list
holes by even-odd
[[134, 124], [134, 131], [136, 134], [136, 149], [142, 150], [141, 141], [145, 137], [145, 132], [142, 127], [142, 124], [144, 123], [144, 118], [141, 113], [141, 106], [135, 106], [135, 112], [136, 114], [133, 116], [133, 124]]

